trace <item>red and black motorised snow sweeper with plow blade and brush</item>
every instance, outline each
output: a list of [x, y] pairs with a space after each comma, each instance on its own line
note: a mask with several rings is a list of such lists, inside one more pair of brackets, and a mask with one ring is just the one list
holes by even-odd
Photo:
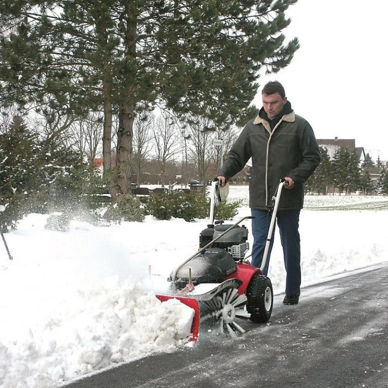
[[240, 225], [246, 216], [234, 224], [215, 221], [215, 209], [221, 202], [221, 182], [215, 179], [210, 189], [210, 224], [201, 231], [199, 249], [178, 265], [170, 277], [166, 294], [156, 295], [162, 302], [177, 298], [194, 309], [190, 341], [198, 339], [200, 323], [213, 320], [216, 330], [236, 337], [245, 330], [235, 318], [255, 323], [267, 322], [272, 314], [273, 288], [265, 267], [281, 190], [287, 182], [280, 181], [271, 204], [271, 221], [260, 268], [245, 259], [249, 249], [248, 229]]

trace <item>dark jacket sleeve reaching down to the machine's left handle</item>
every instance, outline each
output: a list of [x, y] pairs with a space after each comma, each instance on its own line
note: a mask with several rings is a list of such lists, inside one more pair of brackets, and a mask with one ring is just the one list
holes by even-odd
[[244, 167], [251, 157], [251, 147], [248, 139], [248, 124], [242, 129], [240, 136], [227, 153], [226, 160], [218, 175], [224, 176], [226, 179], [232, 178]]

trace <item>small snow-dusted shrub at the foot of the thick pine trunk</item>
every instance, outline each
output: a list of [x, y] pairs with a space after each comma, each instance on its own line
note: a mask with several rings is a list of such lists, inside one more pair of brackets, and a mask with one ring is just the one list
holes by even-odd
[[103, 218], [109, 222], [144, 221], [144, 210], [139, 198], [132, 194], [122, 194], [114, 205], [109, 205]]

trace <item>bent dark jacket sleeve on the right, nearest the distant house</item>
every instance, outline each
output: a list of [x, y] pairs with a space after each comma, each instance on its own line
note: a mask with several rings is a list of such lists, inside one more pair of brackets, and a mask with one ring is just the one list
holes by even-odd
[[297, 167], [293, 168], [288, 176], [295, 183], [303, 183], [314, 172], [321, 162], [321, 153], [314, 132], [304, 121], [299, 136], [299, 147], [301, 151], [301, 161]]

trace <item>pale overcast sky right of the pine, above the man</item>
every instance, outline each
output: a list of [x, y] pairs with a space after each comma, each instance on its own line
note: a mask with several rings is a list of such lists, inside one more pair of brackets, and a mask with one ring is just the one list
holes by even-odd
[[301, 47], [288, 67], [260, 77], [254, 103], [266, 82], [280, 81], [317, 138], [356, 139], [388, 160], [387, 15], [387, 0], [298, 0], [284, 34]]

